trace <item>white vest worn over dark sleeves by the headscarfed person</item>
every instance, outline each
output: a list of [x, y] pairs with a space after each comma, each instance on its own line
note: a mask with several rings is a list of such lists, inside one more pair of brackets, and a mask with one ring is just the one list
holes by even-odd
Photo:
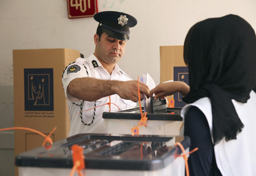
[[[240, 120], [244, 124], [244, 128], [236, 136], [236, 140], [225, 141], [225, 138], [223, 138], [214, 146], [216, 163], [222, 176], [256, 176], [256, 153], [254, 151], [256, 146], [256, 93], [254, 91], [250, 92], [250, 99], [247, 103], [239, 103], [235, 100], [232, 100], [232, 102]], [[212, 136], [212, 107], [210, 99], [204, 97], [192, 104], [188, 104], [181, 110], [183, 118], [192, 106], [198, 107], [204, 113]]]

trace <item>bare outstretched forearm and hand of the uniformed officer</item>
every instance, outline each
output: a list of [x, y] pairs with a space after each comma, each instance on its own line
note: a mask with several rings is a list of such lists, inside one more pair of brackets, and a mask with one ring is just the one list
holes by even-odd
[[[143, 93], [149, 98], [149, 88], [139, 83], [140, 97]], [[121, 98], [138, 101], [138, 81], [110, 81], [95, 78], [76, 78], [70, 81], [67, 92], [75, 98], [85, 101], [96, 101], [108, 95], [117, 94]]]

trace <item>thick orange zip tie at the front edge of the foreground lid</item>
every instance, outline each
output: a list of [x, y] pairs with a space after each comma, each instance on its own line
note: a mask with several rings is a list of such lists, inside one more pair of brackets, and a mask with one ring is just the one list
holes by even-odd
[[72, 159], [73, 159], [73, 168], [70, 172], [70, 176], [73, 176], [75, 172], [79, 174], [79, 176], [84, 176], [81, 173], [81, 170], [85, 168], [84, 164], [84, 154], [83, 154], [83, 147], [80, 147], [78, 144], [74, 144], [71, 147], [72, 150]]

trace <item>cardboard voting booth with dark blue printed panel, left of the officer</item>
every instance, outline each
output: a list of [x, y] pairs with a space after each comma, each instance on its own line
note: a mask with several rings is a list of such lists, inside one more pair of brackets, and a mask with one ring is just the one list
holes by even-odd
[[[61, 76], [79, 57], [73, 49], [13, 50], [15, 127], [32, 128], [46, 136], [57, 127], [52, 140], [67, 137], [70, 120]], [[15, 156], [40, 147], [43, 141], [37, 133], [15, 130]]]

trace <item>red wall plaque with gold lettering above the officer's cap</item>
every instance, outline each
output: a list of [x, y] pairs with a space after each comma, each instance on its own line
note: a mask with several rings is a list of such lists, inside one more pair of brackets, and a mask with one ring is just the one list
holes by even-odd
[[97, 12], [97, 0], [67, 0], [68, 18], [93, 17]]

